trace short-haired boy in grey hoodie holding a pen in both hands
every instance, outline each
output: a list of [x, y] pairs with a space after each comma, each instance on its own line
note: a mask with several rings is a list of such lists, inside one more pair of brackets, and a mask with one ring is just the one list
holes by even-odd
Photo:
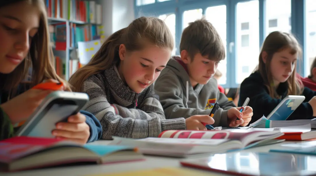
[[[225, 59], [225, 47], [214, 26], [206, 19], [196, 20], [186, 27], [180, 42], [181, 57], [173, 57], [155, 82], [167, 119], [210, 114], [214, 104], [214, 127], [246, 126], [252, 117], [252, 108], [235, 107], [219, 92], [212, 78], [218, 63]], [[237, 119], [239, 118], [239, 120]]]

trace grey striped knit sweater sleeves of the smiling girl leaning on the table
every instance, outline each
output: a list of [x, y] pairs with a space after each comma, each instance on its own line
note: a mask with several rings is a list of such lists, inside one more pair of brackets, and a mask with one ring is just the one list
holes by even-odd
[[110, 104], [105, 91], [93, 81], [85, 81], [82, 90], [90, 98], [85, 110], [94, 114], [102, 125], [102, 139], [157, 137], [164, 130], [186, 129], [184, 118], [166, 120], [160, 102], [154, 97], [146, 98], [139, 109], [128, 109]]

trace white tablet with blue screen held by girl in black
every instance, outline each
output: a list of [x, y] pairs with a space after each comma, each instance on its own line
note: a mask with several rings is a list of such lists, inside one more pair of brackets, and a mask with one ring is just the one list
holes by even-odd
[[289, 95], [266, 118], [269, 120], [286, 120], [304, 100], [305, 96]]

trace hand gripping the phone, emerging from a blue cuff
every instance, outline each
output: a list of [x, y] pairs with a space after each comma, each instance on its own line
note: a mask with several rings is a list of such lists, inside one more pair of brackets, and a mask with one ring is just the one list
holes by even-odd
[[70, 116], [68, 122], [57, 123], [56, 128], [52, 134], [59, 139], [85, 144], [90, 137], [90, 127], [86, 124], [86, 116], [81, 113]]

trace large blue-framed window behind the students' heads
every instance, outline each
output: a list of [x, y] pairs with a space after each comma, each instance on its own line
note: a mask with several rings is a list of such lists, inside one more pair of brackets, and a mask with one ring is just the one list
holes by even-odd
[[204, 15], [225, 45], [226, 58], [218, 66], [223, 74], [219, 84], [225, 88], [237, 87], [256, 69], [260, 46], [272, 31], [293, 33], [304, 47], [304, 68], [298, 69], [300, 74], [304, 69], [302, 76], [309, 74], [316, 57], [316, 0], [136, 0], [135, 4], [136, 17], [148, 14], [166, 22], [177, 55], [183, 29]]

